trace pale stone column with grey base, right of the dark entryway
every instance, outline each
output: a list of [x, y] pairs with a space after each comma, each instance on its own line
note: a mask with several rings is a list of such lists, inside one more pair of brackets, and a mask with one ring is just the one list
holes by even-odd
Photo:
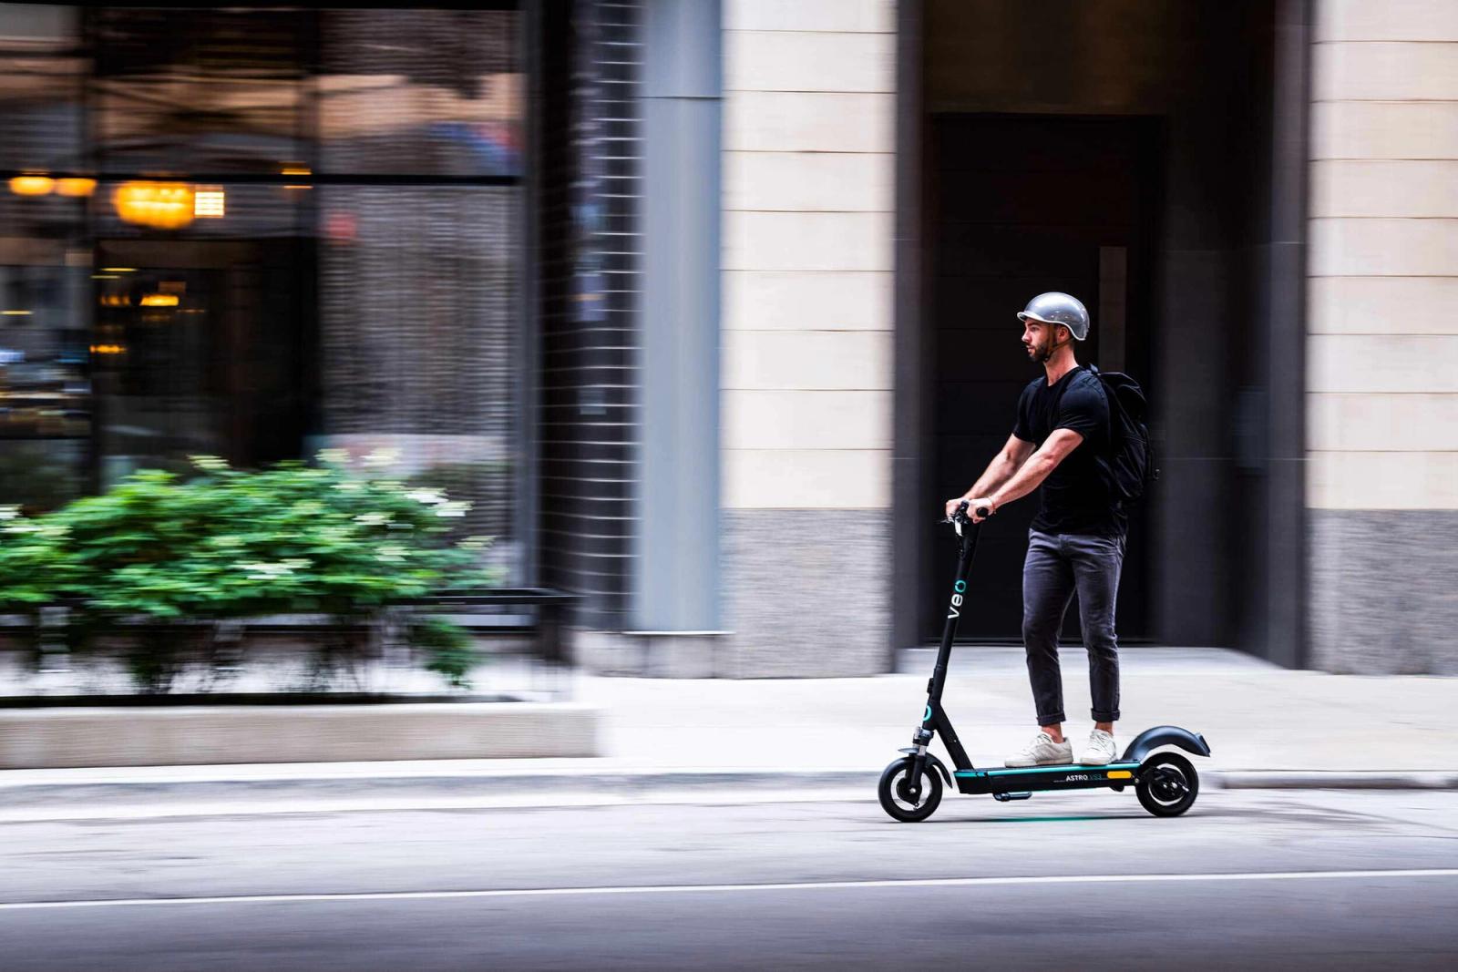
[[1319, 0], [1311, 663], [1458, 673], [1458, 4]]

